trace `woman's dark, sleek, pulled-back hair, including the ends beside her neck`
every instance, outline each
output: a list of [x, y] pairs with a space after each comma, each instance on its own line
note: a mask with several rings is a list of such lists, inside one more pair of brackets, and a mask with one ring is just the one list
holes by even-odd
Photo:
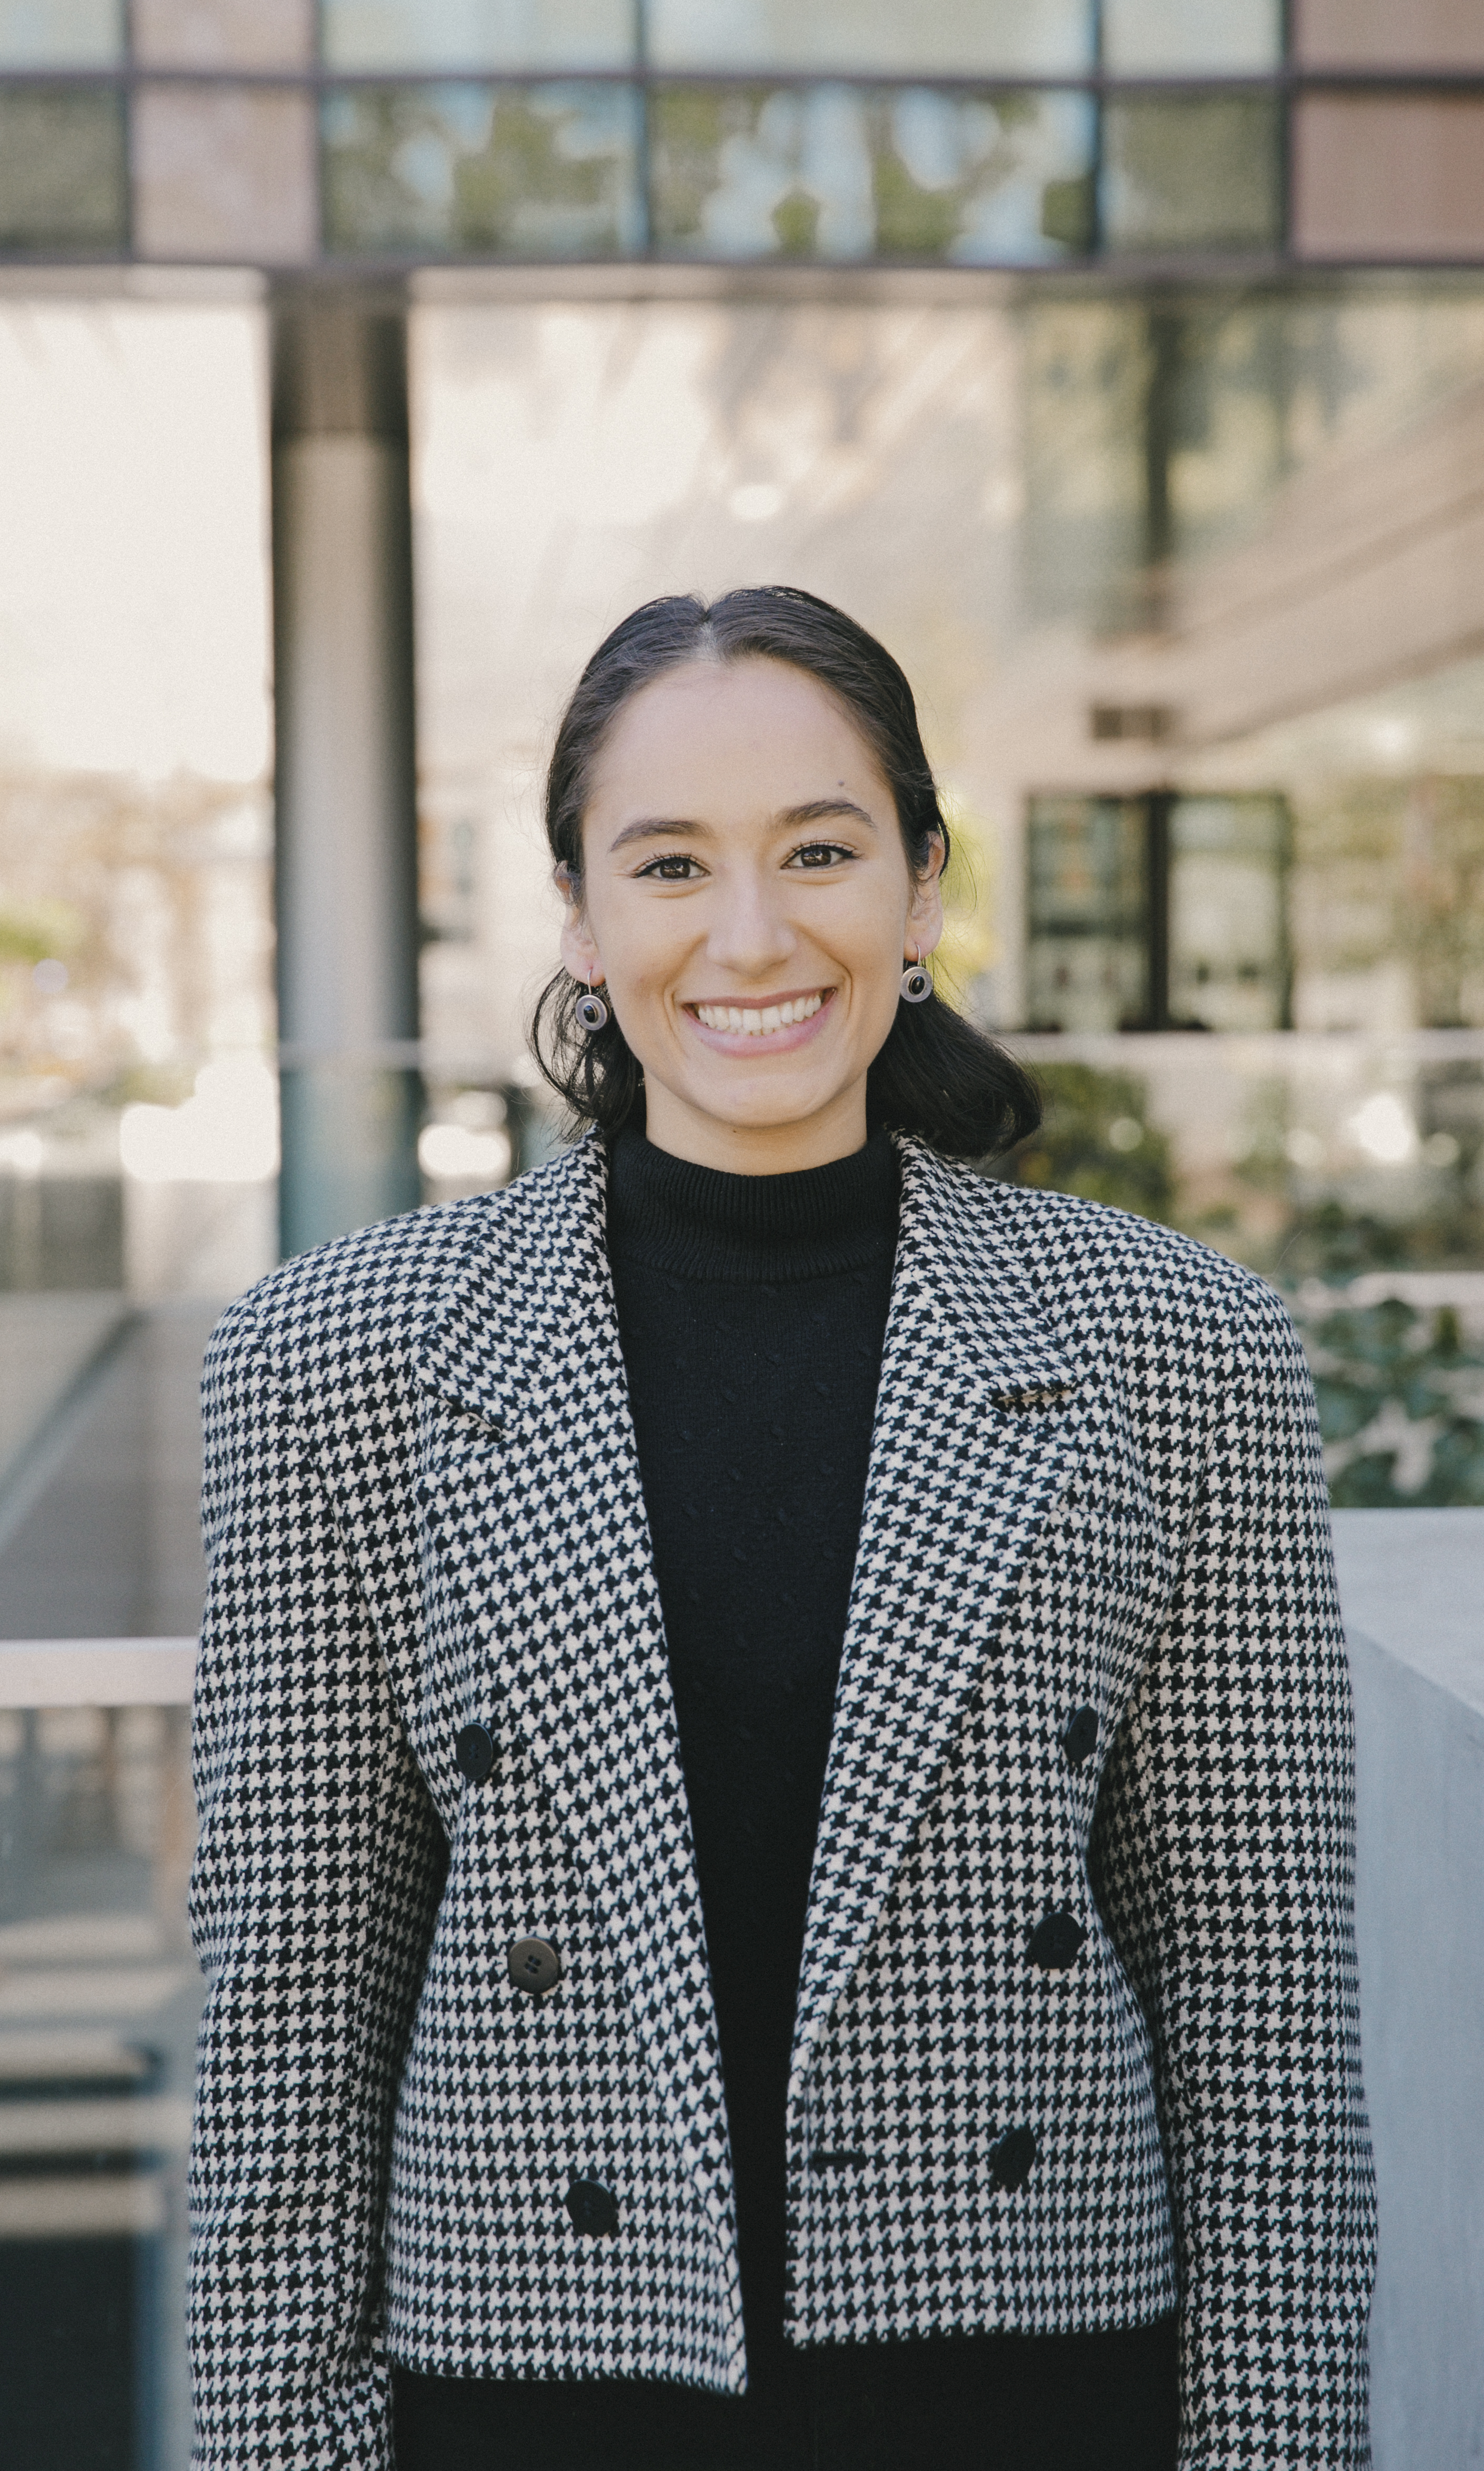
[[[896, 801], [906, 862], [921, 877], [933, 838], [948, 855], [948, 825], [926, 759], [916, 704], [901, 667], [844, 610], [788, 583], [726, 593], [706, 605], [691, 593], [647, 600], [598, 645], [563, 712], [546, 776], [546, 838], [583, 890], [583, 810], [598, 751], [627, 699], [667, 670], [691, 660], [785, 660], [830, 687], [872, 749]], [[588, 1038], [575, 1006], [585, 993], [563, 971], [541, 991], [531, 1048], [541, 1072], [573, 1117], [612, 1134], [642, 1122], [644, 1077], [612, 1011]], [[901, 1003], [886, 1045], [867, 1077], [872, 1127], [916, 1132], [948, 1159], [988, 1159], [1040, 1124], [1030, 1075], [993, 1038], [975, 1030], [941, 996]]]

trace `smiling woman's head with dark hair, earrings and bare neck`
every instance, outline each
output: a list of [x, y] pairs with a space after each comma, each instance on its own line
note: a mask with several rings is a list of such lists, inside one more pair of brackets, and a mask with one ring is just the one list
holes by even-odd
[[785, 588], [635, 610], [568, 707], [546, 828], [570, 976], [536, 1053], [578, 1119], [644, 1119], [733, 1174], [820, 1166], [867, 1127], [985, 1159], [1037, 1124], [1000, 1048], [919, 1008], [921, 981], [901, 1006], [943, 932], [948, 828], [911, 687], [842, 610]]

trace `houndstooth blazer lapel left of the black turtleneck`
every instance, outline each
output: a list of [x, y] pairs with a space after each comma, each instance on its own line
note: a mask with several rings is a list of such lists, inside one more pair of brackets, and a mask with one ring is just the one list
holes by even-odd
[[726, 2249], [721, 2053], [602, 1211], [598, 1142], [504, 1196], [499, 1260], [472, 1263], [420, 1349], [437, 1421], [452, 1404], [469, 1431], [422, 1505]]

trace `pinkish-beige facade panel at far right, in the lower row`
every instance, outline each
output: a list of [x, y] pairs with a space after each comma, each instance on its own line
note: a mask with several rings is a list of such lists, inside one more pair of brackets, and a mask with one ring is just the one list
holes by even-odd
[[1378, 262], [1484, 257], [1484, 96], [1304, 96], [1294, 250]]

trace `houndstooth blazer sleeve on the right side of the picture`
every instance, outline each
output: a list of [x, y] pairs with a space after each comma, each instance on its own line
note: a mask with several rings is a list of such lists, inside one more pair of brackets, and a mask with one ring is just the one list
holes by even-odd
[[1180, 2258], [1180, 2471], [1370, 2461], [1375, 2266], [1353, 1717], [1319, 1418], [1279, 1300], [1244, 1332], [1094, 1888], [1143, 1999]]

